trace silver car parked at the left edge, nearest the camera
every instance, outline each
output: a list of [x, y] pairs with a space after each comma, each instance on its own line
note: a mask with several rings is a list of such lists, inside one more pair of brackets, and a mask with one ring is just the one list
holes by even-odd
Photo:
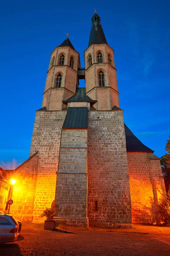
[[0, 244], [16, 241], [18, 229], [19, 224], [14, 216], [0, 213]]

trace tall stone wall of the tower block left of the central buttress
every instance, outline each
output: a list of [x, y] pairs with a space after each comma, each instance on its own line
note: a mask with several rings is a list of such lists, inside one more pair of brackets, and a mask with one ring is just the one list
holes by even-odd
[[40, 214], [55, 199], [56, 172], [62, 125], [66, 111], [37, 111], [30, 154], [39, 151], [34, 222], [42, 222]]

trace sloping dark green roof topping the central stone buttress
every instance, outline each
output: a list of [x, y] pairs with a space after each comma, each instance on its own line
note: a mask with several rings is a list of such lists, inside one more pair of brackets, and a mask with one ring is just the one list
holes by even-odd
[[62, 128], [88, 128], [88, 108], [68, 108]]

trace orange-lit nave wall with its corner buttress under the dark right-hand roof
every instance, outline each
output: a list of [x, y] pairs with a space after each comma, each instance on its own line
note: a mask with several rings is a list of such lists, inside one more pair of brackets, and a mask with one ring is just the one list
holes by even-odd
[[[154, 159], [155, 158], [155, 159]], [[133, 223], [153, 223], [153, 207], [165, 190], [160, 160], [150, 153], [128, 152]]]

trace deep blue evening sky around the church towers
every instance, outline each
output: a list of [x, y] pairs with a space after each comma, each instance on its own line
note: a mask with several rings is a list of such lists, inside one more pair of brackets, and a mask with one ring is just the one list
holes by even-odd
[[[63, 5], [62, 5], [63, 3]], [[106, 5], [105, 5], [106, 4]], [[170, 135], [170, 1], [3, 1], [0, 8], [0, 166], [29, 156], [52, 50], [88, 47], [94, 9], [115, 50], [126, 125], [161, 157]], [[83, 86], [81, 81], [80, 86]]]

